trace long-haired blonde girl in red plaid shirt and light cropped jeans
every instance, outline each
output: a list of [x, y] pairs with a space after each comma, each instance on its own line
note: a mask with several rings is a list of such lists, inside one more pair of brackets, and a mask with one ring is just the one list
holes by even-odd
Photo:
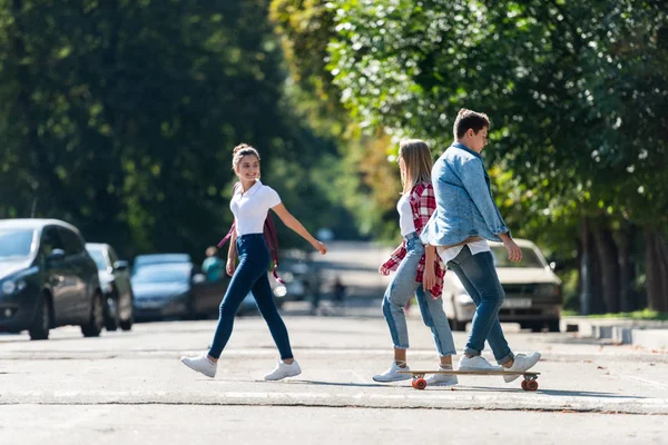
[[[389, 369], [373, 377], [376, 382], [396, 382], [410, 379], [406, 365], [409, 332], [404, 307], [415, 295], [422, 319], [430, 327], [436, 344], [440, 367], [452, 369], [452, 356], [456, 354], [448, 317], [443, 312], [441, 291], [445, 266], [435, 254], [434, 246], [423, 246], [419, 234], [436, 208], [436, 200], [431, 184], [432, 157], [428, 145], [422, 140], [404, 140], [399, 148], [399, 168], [403, 191], [396, 210], [399, 226], [403, 237], [399, 246], [379, 271], [390, 275], [395, 270], [392, 281], [383, 298], [383, 315], [390, 327], [394, 344], [394, 360]], [[429, 385], [455, 385], [454, 375], [433, 374], [428, 377]]]

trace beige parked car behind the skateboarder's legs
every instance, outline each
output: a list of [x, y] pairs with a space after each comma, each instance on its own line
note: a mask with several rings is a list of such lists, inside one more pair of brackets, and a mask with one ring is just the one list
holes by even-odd
[[[499, 310], [501, 322], [519, 323], [523, 328], [559, 332], [563, 307], [561, 280], [554, 275], [540, 249], [530, 240], [515, 239], [522, 260], [511, 263], [501, 243], [490, 243], [497, 274], [505, 293]], [[473, 319], [475, 305], [453, 271], [445, 274], [443, 308], [453, 330], [464, 330]]]

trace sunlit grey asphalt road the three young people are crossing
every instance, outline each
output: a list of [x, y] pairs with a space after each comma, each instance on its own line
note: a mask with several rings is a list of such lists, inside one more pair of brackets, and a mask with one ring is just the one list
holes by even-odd
[[[237, 318], [215, 379], [178, 360], [206, 350], [215, 320], [138, 324], [100, 338], [76, 327], [47, 342], [0, 335], [0, 444], [666, 443], [668, 355], [574, 334], [504, 326], [515, 353], [542, 353], [534, 393], [488, 376], [425, 390], [373, 382], [392, 359], [379, 308], [384, 283], [377, 260], [345, 261], [340, 255], [337, 270], [362, 290], [344, 309], [314, 317], [306, 303], [286, 304], [303, 374], [284, 382], [262, 380], [277, 353], [259, 317]], [[434, 368], [418, 308], [409, 329], [410, 366]], [[461, 353], [465, 334], [454, 338]]]

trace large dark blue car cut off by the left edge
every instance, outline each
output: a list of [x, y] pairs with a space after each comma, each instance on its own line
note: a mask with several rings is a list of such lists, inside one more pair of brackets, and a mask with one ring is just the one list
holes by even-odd
[[76, 227], [57, 219], [0, 220], [0, 330], [79, 325], [100, 335], [104, 301], [97, 267]]

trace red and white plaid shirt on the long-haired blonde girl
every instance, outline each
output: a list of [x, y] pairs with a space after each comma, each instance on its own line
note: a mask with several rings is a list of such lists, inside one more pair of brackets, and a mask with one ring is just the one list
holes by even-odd
[[[434, 188], [431, 184], [420, 182], [411, 190], [409, 196], [411, 202], [411, 210], [413, 211], [413, 224], [415, 225], [415, 231], [418, 235], [422, 231], [426, 221], [436, 209], [436, 198], [434, 197]], [[406, 256], [405, 240], [401, 241], [401, 245], [390, 255], [390, 259], [383, 263], [383, 266], [387, 270], [396, 270], [401, 261]], [[424, 264], [425, 255], [420, 258], [418, 265], [418, 273], [415, 275], [415, 281], [422, 283], [424, 276]], [[441, 260], [439, 254], [434, 254], [434, 273], [436, 275], [436, 283], [429, 289], [432, 298], [441, 298], [443, 291], [443, 277], [445, 276], [445, 265]]]

